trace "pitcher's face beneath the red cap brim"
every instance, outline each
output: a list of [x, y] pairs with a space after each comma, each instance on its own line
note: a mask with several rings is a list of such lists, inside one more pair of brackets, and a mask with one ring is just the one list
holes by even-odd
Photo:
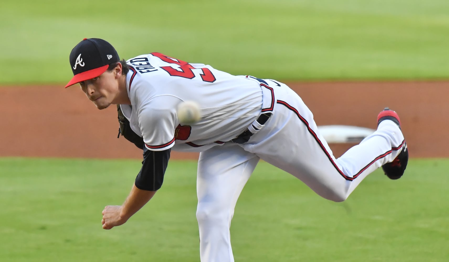
[[96, 78], [79, 83], [81, 90], [98, 109], [107, 108], [119, 93], [116, 73], [114, 70], [106, 71]]

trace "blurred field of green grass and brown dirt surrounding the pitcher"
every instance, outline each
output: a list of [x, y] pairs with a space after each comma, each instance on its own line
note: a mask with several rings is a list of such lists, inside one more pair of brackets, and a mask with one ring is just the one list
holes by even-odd
[[114, 108], [64, 88], [85, 37], [123, 59], [162, 52], [282, 81], [318, 125], [375, 128], [385, 106], [400, 114], [405, 176], [378, 170], [343, 203], [261, 162], [236, 206], [236, 261], [448, 261], [448, 29], [444, 0], [2, 3], [0, 261], [199, 261], [195, 154], [174, 154], [154, 199], [101, 229], [141, 151], [116, 138]]

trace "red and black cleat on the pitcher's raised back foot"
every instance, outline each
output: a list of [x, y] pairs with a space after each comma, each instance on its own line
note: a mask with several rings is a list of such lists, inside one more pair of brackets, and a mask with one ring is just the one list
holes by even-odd
[[[380, 122], [383, 120], [391, 120], [396, 123], [399, 129], [401, 129], [401, 120], [399, 119], [399, 116], [395, 111], [388, 107], [383, 109], [377, 116], [377, 126], [379, 126]], [[409, 150], [407, 150], [407, 144], [404, 141], [401, 153], [397, 155], [393, 162], [382, 166], [383, 172], [389, 179], [399, 179], [404, 174], [407, 162], [409, 162]]]

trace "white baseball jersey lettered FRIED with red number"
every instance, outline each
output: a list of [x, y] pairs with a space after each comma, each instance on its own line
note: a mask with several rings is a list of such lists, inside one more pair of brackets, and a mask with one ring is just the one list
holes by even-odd
[[[126, 84], [131, 106], [121, 105], [131, 129], [153, 151], [204, 151], [232, 140], [255, 121], [263, 109], [260, 83], [234, 76], [204, 64], [151, 53], [127, 61], [131, 66]], [[177, 105], [192, 100], [200, 105], [202, 119], [183, 125]], [[268, 95], [264, 112], [271, 112]], [[266, 105], [265, 105], [266, 104]]]

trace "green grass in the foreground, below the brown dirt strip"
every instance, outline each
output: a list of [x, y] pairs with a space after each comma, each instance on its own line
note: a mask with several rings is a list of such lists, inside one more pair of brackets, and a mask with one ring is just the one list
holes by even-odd
[[[101, 228], [101, 211], [123, 202], [139, 164], [1, 158], [1, 261], [198, 261], [196, 162], [171, 162], [154, 199], [123, 226]], [[235, 260], [447, 261], [448, 168], [413, 159], [400, 180], [378, 170], [334, 203], [261, 162], [236, 207]]]

